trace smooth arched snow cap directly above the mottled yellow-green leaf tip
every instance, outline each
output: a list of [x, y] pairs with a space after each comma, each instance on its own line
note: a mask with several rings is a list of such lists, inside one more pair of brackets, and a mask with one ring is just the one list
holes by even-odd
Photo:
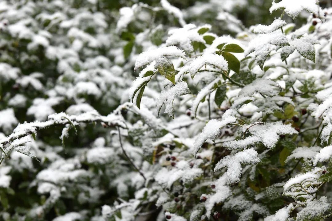
[[135, 63], [134, 70], [144, 65], [150, 64], [151, 62], [162, 58], [163, 56], [174, 56], [180, 58], [186, 58], [183, 50], [178, 49], [176, 46], [161, 47], [157, 49], [150, 49], [144, 51], [138, 55]]

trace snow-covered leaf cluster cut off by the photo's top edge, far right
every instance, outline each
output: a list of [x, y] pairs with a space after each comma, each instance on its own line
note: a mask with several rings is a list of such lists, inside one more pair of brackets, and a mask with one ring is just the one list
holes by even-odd
[[273, 1], [270, 8], [270, 13], [278, 9], [284, 9], [285, 12], [293, 19], [295, 19], [303, 10], [316, 15], [318, 15], [318, 12], [322, 11], [322, 9], [317, 5], [316, 0], [282, 0], [278, 3]]

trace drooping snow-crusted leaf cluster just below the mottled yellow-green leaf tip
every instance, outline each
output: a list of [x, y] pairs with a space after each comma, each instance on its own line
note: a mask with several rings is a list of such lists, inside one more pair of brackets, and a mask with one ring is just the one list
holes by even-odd
[[175, 97], [182, 96], [190, 93], [188, 85], [186, 82], [176, 83], [174, 86], [166, 91], [161, 92], [157, 100], [157, 113], [159, 117], [160, 109], [165, 104], [164, 113], [168, 114], [171, 118], [174, 118], [174, 107], [173, 101]]

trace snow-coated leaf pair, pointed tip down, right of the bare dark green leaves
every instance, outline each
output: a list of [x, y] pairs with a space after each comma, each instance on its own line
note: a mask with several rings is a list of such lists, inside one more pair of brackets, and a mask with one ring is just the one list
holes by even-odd
[[282, 46], [289, 45], [287, 37], [276, 30], [271, 33], [259, 34], [248, 44], [248, 48], [244, 51], [244, 56], [255, 52], [255, 60], [259, 67], [263, 70], [264, 63], [269, 57], [270, 52]]

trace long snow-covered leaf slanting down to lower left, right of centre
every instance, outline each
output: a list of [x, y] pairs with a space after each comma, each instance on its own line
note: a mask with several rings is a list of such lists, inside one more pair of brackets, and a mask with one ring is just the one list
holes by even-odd
[[209, 138], [212, 141], [220, 134], [220, 129], [228, 124], [235, 123], [236, 117], [233, 116], [234, 111], [229, 109], [226, 110], [222, 115], [221, 121], [216, 119], [210, 120], [207, 125], [203, 128], [202, 133], [196, 138], [194, 142], [194, 156], [196, 157], [197, 152], [202, 147], [203, 143]]

